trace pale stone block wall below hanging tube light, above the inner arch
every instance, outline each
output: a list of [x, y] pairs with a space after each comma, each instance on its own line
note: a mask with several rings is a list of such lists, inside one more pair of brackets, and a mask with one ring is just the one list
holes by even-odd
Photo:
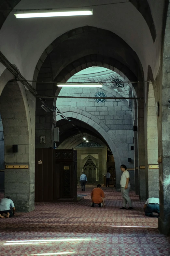
[[[98, 92], [104, 92], [106, 96], [114, 97], [103, 88], [62, 88], [59, 96], [78, 96], [78, 97], [94, 97]], [[127, 100], [106, 99], [101, 103], [95, 99], [83, 98], [57, 98], [56, 106], [64, 114], [69, 113], [72, 109], [71, 117], [81, 119], [81, 121], [88, 123], [98, 132], [103, 128], [106, 133], [116, 138], [113, 143], [118, 148], [117, 152], [112, 152], [114, 158], [120, 158], [120, 163], [125, 164], [127, 168], [134, 168], [134, 151], [131, 150], [133, 144], [133, 119], [132, 111], [128, 108]], [[81, 117], [81, 114], [84, 116]], [[67, 117], [69, 114], [67, 115]], [[60, 120], [60, 114], [57, 115], [57, 121]], [[90, 119], [90, 120], [89, 120]], [[103, 134], [102, 134], [103, 136]], [[107, 139], [104, 137], [107, 141]], [[114, 139], [113, 139], [114, 140]], [[128, 162], [131, 158], [131, 162]], [[116, 165], [116, 160], [115, 160]], [[116, 165], [117, 173], [117, 188], [120, 187], [120, 166]], [[131, 179], [134, 180], [134, 179]], [[134, 187], [134, 185], [133, 185]]]

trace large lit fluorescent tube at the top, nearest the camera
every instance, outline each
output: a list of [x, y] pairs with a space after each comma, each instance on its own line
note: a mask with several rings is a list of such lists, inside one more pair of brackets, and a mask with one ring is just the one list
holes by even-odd
[[78, 11], [51, 11], [51, 12], [32, 12], [27, 13], [15, 13], [15, 17], [18, 18], [41, 18], [41, 17], [62, 17], [62, 16], [80, 16], [80, 15], [92, 15], [92, 10], [78, 10]]

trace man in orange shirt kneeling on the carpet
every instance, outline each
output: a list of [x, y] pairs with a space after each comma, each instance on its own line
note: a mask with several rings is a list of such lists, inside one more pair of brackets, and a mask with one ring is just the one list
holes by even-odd
[[101, 189], [101, 185], [98, 184], [97, 188], [94, 188], [91, 193], [92, 203], [91, 206], [94, 207], [95, 204], [98, 204], [99, 207], [105, 206], [105, 200], [104, 200], [104, 192]]

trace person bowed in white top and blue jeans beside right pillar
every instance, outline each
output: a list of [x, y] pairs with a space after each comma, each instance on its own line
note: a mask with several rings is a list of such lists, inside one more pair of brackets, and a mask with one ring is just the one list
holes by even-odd
[[[148, 217], [159, 218], [159, 198], [156, 198], [156, 197], [148, 198], [148, 200], [144, 205], [144, 212], [145, 212], [145, 215]], [[158, 213], [158, 215], [153, 213]]]

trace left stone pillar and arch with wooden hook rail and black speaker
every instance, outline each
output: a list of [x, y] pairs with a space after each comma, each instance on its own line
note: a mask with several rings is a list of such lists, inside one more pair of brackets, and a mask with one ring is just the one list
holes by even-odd
[[[0, 77], [0, 90], [4, 161], [8, 166], [5, 169], [5, 196], [11, 197], [17, 211], [29, 212], [34, 210], [35, 180], [35, 136], [32, 130], [35, 122], [30, 99], [34, 103], [35, 99], [7, 69]], [[13, 152], [12, 145], [18, 145], [18, 152]]]

